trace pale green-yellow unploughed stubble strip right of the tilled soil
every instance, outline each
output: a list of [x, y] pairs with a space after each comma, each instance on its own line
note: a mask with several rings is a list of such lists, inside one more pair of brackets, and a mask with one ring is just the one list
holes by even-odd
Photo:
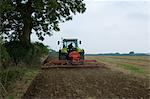
[[96, 59], [110, 65], [112, 68], [120, 68], [133, 74], [140, 74], [145, 77], [149, 76], [149, 59], [150, 57], [136, 56], [95, 56], [87, 57], [88, 59]]

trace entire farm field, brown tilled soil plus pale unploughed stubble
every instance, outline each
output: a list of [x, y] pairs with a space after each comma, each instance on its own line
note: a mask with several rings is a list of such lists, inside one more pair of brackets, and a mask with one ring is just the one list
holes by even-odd
[[87, 56], [86, 59], [96, 59], [100, 67], [41, 70], [23, 98], [150, 97], [148, 56]]

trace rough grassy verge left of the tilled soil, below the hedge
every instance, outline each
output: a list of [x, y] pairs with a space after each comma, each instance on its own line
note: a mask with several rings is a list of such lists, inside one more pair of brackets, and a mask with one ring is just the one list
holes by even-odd
[[[3, 96], [6, 96], [6, 99], [21, 98], [38, 71], [38, 67], [25, 66], [12, 66], [0, 70], [0, 81], [7, 91], [6, 93], [5, 90], [2, 90]], [[1, 94], [0, 98], [2, 98]]]

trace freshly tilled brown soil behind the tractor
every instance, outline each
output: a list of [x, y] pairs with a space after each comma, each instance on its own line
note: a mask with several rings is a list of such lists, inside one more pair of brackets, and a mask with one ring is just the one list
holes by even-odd
[[148, 80], [112, 71], [109, 68], [42, 70], [25, 99], [149, 98]]

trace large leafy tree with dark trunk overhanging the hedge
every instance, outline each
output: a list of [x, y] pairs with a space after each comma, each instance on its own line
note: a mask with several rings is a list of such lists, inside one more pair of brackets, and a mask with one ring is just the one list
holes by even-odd
[[0, 35], [7, 41], [28, 44], [36, 33], [40, 40], [59, 31], [59, 23], [85, 12], [83, 0], [3, 0], [0, 1]]

